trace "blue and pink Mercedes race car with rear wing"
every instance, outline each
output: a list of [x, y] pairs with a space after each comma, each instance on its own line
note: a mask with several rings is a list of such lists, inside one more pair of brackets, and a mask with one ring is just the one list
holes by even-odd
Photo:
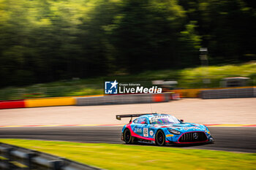
[[[165, 144], [194, 144], [214, 142], [206, 125], [184, 123], [172, 115], [166, 114], [133, 114], [116, 115], [116, 119], [131, 117], [121, 131], [121, 140], [127, 144], [135, 142]], [[132, 117], [138, 117], [132, 121]]]

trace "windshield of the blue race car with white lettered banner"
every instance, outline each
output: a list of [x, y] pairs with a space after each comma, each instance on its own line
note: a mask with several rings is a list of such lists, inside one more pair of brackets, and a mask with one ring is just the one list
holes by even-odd
[[180, 123], [176, 117], [173, 117], [171, 115], [159, 115], [149, 118], [149, 122], [151, 124], [175, 124]]

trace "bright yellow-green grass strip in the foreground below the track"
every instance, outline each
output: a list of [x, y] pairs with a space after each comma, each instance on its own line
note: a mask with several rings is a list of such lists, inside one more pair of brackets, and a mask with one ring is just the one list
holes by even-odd
[[0, 139], [102, 169], [256, 169], [255, 153], [126, 144]]

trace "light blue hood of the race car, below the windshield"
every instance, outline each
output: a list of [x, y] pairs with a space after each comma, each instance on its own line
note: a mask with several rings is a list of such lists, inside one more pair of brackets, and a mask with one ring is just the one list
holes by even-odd
[[160, 125], [160, 128], [173, 128], [177, 131], [205, 131], [206, 127], [204, 125], [196, 123], [177, 123], [177, 124], [168, 124]]

